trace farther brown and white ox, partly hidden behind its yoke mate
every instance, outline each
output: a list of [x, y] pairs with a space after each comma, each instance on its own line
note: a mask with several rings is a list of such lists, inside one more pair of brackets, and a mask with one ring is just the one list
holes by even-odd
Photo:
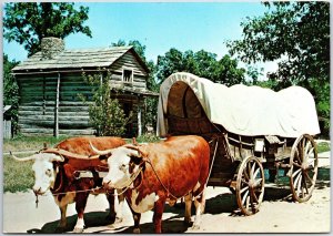
[[[34, 185], [32, 189], [37, 196], [43, 195], [49, 189], [53, 194], [61, 214], [57, 232], [62, 232], [67, 228], [67, 206], [74, 202], [78, 220], [73, 232], [83, 232], [83, 213], [90, 193], [89, 189], [101, 186], [102, 184], [102, 178], [98, 176], [93, 166], [99, 164], [103, 165], [103, 163], [101, 163], [99, 158], [89, 157], [95, 155], [90, 147], [90, 143], [100, 150], [113, 148], [125, 144], [124, 140], [120, 137], [72, 137], [57, 144], [54, 148], [43, 150], [32, 156], [23, 158], [13, 156], [17, 161], [34, 161], [32, 165], [34, 172]], [[75, 178], [75, 171], [82, 170], [91, 171], [90, 173], [92, 173], [93, 176]], [[107, 165], [104, 165], [104, 171], [108, 171]], [[115, 220], [114, 195], [107, 194], [107, 198], [110, 205], [108, 219], [113, 223]], [[121, 209], [123, 196], [119, 196], [119, 208]], [[117, 220], [122, 220], [121, 211], [117, 212]]]

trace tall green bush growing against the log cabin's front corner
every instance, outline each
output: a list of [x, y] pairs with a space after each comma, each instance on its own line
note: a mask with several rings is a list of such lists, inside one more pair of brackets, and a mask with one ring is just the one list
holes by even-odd
[[[109, 81], [111, 74], [82, 74], [83, 80], [92, 88], [92, 104], [89, 105], [91, 125], [97, 130], [98, 136], [122, 136], [125, 125], [131, 119], [125, 117], [118, 99], [111, 99]], [[87, 102], [87, 99], [80, 95]]]

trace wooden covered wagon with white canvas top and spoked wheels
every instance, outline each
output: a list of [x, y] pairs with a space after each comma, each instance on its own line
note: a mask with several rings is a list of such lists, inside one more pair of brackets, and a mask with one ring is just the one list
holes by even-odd
[[208, 185], [235, 193], [240, 211], [252, 215], [264, 195], [265, 174], [290, 178], [293, 198], [307, 201], [317, 175], [315, 103], [300, 86], [274, 92], [225, 86], [190, 73], [170, 75], [160, 89], [158, 134], [203, 136], [211, 146]]

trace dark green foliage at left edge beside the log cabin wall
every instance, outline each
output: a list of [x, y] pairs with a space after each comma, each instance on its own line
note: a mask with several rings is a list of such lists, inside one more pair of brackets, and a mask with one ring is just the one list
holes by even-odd
[[11, 74], [11, 69], [18, 63], [17, 61], [9, 61], [8, 55], [3, 54], [3, 105], [11, 105], [8, 115], [12, 117], [13, 133], [18, 132], [19, 86], [16, 78]]

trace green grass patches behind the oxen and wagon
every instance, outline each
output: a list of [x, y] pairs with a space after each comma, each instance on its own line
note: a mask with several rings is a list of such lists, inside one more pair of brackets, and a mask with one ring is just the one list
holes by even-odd
[[[51, 136], [34, 136], [34, 137], [17, 137], [13, 140], [3, 141], [3, 153], [9, 151], [38, 151], [43, 147], [43, 143], [47, 143], [49, 147], [65, 140], [67, 136], [59, 138]], [[157, 142], [159, 138], [153, 135], [143, 135], [137, 138], [139, 143]], [[131, 140], [128, 141], [131, 143]], [[320, 143], [317, 145], [319, 153], [327, 152], [331, 150], [329, 143]], [[27, 154], [26, 154], [27, 155]], [[24, 156], [24, 154], [17, 155]], [[9, 155], [3, 156], [3, 192], [27, 192], [33, 186], [33, 172], [31, 170], [32, 161], [29, 162], [16, 162]]]

